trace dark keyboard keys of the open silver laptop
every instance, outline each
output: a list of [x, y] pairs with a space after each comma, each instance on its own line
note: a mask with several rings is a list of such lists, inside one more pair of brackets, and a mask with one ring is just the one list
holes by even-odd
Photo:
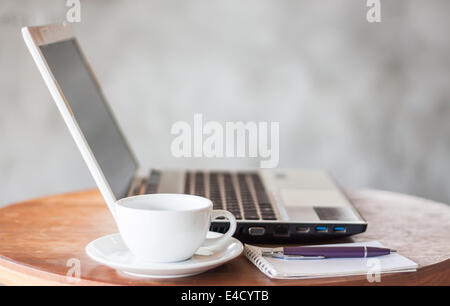
[[[152, 170], [134, 194], [156, 193], [161, 172]], [[187, 171], [184, 193], [207, 197], [214, 209], [230, 211], [237, 220], [277, 220], [277, 215], [257, 172]]]

